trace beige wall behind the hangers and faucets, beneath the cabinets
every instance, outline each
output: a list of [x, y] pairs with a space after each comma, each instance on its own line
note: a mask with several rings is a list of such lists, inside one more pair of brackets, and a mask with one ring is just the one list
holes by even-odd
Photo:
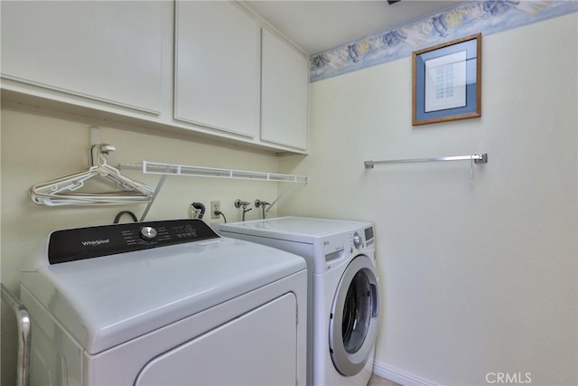
[[[50, 231], [112, 223], [117, 212], [130, 210], [140, 217], [144, 204], [106, 207], [37, 206], [28, 197], [31, 185], [62, 174], [87, 168], [89, 126], [55, 118], [2, 110], [2, 240], [0, 261], [2, 283], [18, 294], [23, 261], [35, 253]], [[131, 131], [101, 127], [101, 142], [117, 147], [107, 157], [109, 165], [137, 163], [142, 160], [183, 165], [277, 172], [277, 157], [233, 146], [210, 145], [166, 137], [154, 137]], [[123, 172], [138, 181], [155, 186], [158, 175]], [[147, 220], [178, 219], [189, 216], [191, 202], [203, 202], [209, 210], [211, 200], [220, 200], [228, 221], [240, 221], [233, 202], [256, 198], [273, 202], [276, 183], [247, 182], [200, 177], [169, 177], [154, 202]], [[275, 216], [276, 208], [271, 210]], [[260, 218], [260, 210], [247, 212], [247, 220]], [[205, 220], [210, 223], [209, 212]], [[128, 217], [123, 222], [130, 221]], [[222, 220], [213, 220], [222, 221]], [[3, 385], [15, 382], [16, 330], [10, 309], [2, 306], [2, 379]]]

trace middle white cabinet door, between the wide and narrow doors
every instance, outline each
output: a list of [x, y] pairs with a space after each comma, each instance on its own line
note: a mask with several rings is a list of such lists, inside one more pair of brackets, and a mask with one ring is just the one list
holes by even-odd
[[177, 2], [174, 118], [245, 137], [259, 129], [259, 26], [225, 1]]

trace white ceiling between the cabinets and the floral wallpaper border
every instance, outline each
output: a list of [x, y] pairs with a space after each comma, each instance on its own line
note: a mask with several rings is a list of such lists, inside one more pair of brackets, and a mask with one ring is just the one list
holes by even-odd
[[465, 1], [256, 0], [244, 1], [309, 54], [385, 32]]

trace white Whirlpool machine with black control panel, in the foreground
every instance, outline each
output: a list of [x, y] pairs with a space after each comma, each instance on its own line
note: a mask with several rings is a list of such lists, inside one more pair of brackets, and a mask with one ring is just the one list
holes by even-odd
[[303, 385], [302, 258], [200, 220], [52, 232], [22, 275], [32, 385]]

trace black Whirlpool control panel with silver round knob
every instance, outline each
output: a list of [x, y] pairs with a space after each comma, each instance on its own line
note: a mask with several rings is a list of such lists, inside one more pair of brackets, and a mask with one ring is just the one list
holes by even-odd
[[219, 237], [199, 219], [132, 222], [53, 231], [48, 242], [48, 261], [58, 264]]

